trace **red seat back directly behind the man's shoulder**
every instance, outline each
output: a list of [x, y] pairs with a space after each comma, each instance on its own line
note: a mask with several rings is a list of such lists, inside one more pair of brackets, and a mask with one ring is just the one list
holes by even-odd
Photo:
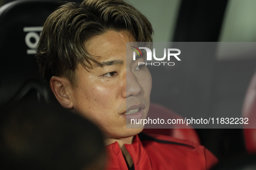
[[[162, 117], [176, 120], [183, 119], [174, 111], [155, 103], [150, 103], [148, 117], [150, 119], [160, 119]], [[163, 126], [159, 126], [159, 128], [161, 127]], [[186, 124], [175, 124], [169, 129], [147, 129], [147, 125], [145, 125], [142, 132], [147, 134], [169, 135], [174, 138], [190, 140], [200, 144], [198, 133], [192, 128], [192, 126], [187, 126]]]

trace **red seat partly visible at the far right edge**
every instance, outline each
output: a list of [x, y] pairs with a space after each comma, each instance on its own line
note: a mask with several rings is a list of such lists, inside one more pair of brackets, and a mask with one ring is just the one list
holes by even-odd
[[248, 118], [244, 124], [244, 139], [248, 153], [256, 154], [256, 73], [250, 82], [243, 103], [243, 118]]

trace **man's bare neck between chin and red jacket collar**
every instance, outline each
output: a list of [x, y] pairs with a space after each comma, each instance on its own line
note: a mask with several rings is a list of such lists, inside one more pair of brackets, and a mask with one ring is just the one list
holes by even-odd
[[123, 138], [123, 139], [105, 139], [105, 145], [110, 145], [114, 142], [117, 142], [119, 147], [121, 148], [124, 160], [126, 161], [127, 167], [130, 168], [133, 165], [133, 159], [127, 149], [125, 148], [124, 144], [132, 144], [133, 143], [133, 137]]

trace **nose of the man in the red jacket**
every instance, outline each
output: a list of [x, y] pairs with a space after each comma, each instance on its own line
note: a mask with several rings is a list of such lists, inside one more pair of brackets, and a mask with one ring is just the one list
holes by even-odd
[[129, 96], [136, 96], [142, 92], [137, 77], [131, 70], [126, 70], [126, 98]]

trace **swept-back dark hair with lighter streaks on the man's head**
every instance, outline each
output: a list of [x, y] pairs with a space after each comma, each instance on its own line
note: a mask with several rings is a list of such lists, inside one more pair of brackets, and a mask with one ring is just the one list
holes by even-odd
[[84, 42], [108, 30], [127, 30], [137, 42], [152, 42], [152, 25], [146, 17], [123, 0], [84, 0], [65, 3], [44, 24], [36, 58], [48, 81], [64, 76], [76, 83], [80, 63], [87, 71], [93, 63], [101, 66], [84, 47]]

